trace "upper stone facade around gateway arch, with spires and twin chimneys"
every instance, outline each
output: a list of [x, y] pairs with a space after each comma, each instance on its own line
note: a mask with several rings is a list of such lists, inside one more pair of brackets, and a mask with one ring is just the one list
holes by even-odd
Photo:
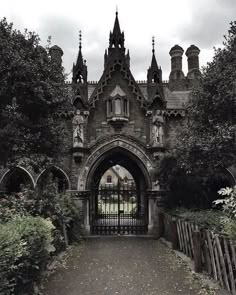
[[[73, 66], [72, 88], [73, 105], [84, 116], [84, 143], [81, 147], [73, 148], [72, 166], [77, 171], [72, 181], [73, 189], [89, 189], [87, 177], [91, 165], [96, 165], [96, 160], [108, 153], [107, 145], [110, 144], [112, 150], [119, 142], [124, 151], [133, 149], [135, 157], [140, 154], [137, 161], [145, 167], [149, 177], [145, 186], [153, 189], [156, 179], [152, 178], [152, 170], [164, 155], [166, 143], [171, 143], [175, 127], [185, 115], [185, 103], [192, 84], [200, 75], [200, 50], [194, 45], [187, 49], [187, 76], [182, 72], [183, 52], [178, 45], [170, 50], [170, 80], [163, 82], [153, 44], [147, 81], [135, 81], [130, 70], [129, 51], [125, 49], [124, 32], [120, 30], [116, 14], [109, 47], [104, 55], [104, 72], [98, 82], [88, 82], [87, 66], [80, 45]], [[140, 152], [136, 149], [140, 149]], [[91, 160], [93, 153], [95, 162]]]

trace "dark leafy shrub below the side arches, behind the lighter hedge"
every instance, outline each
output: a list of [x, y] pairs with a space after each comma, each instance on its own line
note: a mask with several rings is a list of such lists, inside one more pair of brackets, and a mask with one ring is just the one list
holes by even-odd
[[[66, 227], [71, 241], [77, 240], [80, 231], [80, 210], [69, 193], [58, 193], [55, 182], [49, 180], [43, 190], [31, 191], [24, 189], [12, 195], [0, 198], [0, 222], [9, 221], [15, 214], [32, 215], [50, 218], [56, 227], [54, 244], [57, 252], [65, 249]], [[76, 227], [75, 230], [73, 228]], [[76, 232], [77, 231], [77, 232]]]

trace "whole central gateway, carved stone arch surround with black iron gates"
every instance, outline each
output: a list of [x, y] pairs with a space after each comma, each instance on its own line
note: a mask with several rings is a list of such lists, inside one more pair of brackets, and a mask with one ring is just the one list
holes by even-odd
[[[99, 186], [104, 173], [115, 165], [124, 167], [134, 183]], [[90, 193], [89, 218], [92, 234], [145, 234], [148, 231], [148, 191], [152, 164], [138, 143], [115, 136], [100, 144], [85, 162], [78, 189]]]

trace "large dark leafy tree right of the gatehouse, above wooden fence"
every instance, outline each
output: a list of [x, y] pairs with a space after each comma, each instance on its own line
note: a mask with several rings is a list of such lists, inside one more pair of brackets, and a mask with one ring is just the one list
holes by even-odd
[[170, 190], [170, 206], [209, 208], [217, 190], [230, 185], [224, 168], [236, 162], [236, 22], [223, 45], [203, 68], [174, 148], [160, 162], [159, 179]]

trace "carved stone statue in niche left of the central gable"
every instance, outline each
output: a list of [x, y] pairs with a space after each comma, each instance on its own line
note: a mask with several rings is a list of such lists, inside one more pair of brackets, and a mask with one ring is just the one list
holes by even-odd
[[72, 124], [73, 124], [73, 147], [83, 147], [84, 117], [79, 110], [76, 110]]

